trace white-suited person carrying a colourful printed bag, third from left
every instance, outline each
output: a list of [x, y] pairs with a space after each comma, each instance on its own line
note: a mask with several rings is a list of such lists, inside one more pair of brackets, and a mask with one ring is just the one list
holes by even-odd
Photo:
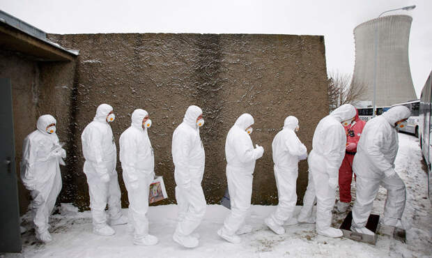
[[123, 181], [128, 190], [129, 223], [134, 228], [135, 245], [155, 245], [157, 238], [148, 234], [148, 192], [155, 177], [155, 157], [147, 130], [151, 119], [144, 109], [135, 109], [132, 124], [120, 137], [120, 161]]

